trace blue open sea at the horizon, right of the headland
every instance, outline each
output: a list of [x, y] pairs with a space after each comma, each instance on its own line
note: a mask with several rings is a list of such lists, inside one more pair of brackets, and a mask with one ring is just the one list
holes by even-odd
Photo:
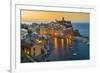
[[78, 29], [80, 34], [89, 37], [89, 23], [72, 23], [74, 30]]

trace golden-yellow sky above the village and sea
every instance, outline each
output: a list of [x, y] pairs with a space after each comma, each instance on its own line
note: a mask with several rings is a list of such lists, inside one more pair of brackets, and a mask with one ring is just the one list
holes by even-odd
[[72, 22], [89, 22], [89, 13], [21, 10], [21, 23], [50, 22], [61, 20], [62, 17]]

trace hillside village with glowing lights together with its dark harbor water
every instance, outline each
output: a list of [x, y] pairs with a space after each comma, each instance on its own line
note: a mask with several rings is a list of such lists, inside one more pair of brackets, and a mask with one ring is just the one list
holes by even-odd
[[71, 21], [21, 24], [21, 62], [89, 59], [89, 39], [74, 30]]

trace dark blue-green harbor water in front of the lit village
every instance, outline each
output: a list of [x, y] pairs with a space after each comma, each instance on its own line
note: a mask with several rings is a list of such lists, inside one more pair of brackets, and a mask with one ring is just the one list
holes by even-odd
[[53, 51], [46, 58], [48, 61], [67, 61], [67, 60], [89, 60], [89, 45], [73, 39], [72, 48], [67, 47], [66, 43], [64, 48], [61, 48], [60, 40], [58, 40], [58, 48], [50, 44]]

